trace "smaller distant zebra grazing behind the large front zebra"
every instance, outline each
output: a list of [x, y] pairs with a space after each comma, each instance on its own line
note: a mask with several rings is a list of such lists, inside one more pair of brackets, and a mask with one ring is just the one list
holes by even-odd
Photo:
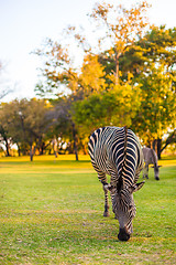
[[143, 178], [148, 179], [148, 165], [154, 165], [152, 168], [154, 168], [154, 174], [155, 174], [155, 180], [160, 180], [158, 178], [158, 168], [162, 166], [157, 165], [157, 155], [156, 152], [147, 147], [142, 148], [143, 155], [144, 155], [144, 162], [145, 167], [143, 170]]

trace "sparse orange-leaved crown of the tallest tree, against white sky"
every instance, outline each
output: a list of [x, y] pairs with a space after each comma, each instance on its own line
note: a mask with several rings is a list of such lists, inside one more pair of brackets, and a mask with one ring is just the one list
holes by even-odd
[[145, 17], [146, 10], [150, 6], [143, 1], [131, 9], [112, 4], [96, 4], [90, 14], [98, 21], [98, 28], [105, 29], [105, 36], [99, 38], [99, 43], [103, 45], [105, 42], [110, 45], [109, 56], [114, 63], [114, 84], [119, 84], [120, 57], [128, 51], [130, 46], [143, 35], [147, 26], [147, 19]]

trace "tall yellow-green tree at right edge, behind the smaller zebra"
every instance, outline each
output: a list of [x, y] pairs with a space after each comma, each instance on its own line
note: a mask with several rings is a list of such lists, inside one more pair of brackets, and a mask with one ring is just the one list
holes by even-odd
[[139, 45], [146, 60], [136, 76], [143, 97], [133, 125], [161, 158], [163, 135], [176, 127], [176, 29], [153, 26]]

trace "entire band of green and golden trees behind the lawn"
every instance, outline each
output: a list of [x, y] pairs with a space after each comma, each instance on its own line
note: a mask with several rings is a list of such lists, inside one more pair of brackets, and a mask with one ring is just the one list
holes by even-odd
[[146, 1], [131, 9], [96, 4], [89, 14], [94, 45], [75, 26], [64, 31], [64, 41], [46, 40], [35, 51], [43, 60], [35, 91], [45, 99], [1, 105], [7, 147], [11, 140], [32, 158], [59, 137], [78, 159], [94, 129], [127, 125], [161, 157], [176, 141], [176, 28], [150, 25], [147, 9]]

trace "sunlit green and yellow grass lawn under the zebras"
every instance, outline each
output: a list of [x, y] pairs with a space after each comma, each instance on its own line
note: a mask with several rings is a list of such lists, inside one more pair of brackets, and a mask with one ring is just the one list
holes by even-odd
[[0, 158], [0, 264], [176, 264], [176, 158], [134, 194], [129, 242], [89, 158]]

